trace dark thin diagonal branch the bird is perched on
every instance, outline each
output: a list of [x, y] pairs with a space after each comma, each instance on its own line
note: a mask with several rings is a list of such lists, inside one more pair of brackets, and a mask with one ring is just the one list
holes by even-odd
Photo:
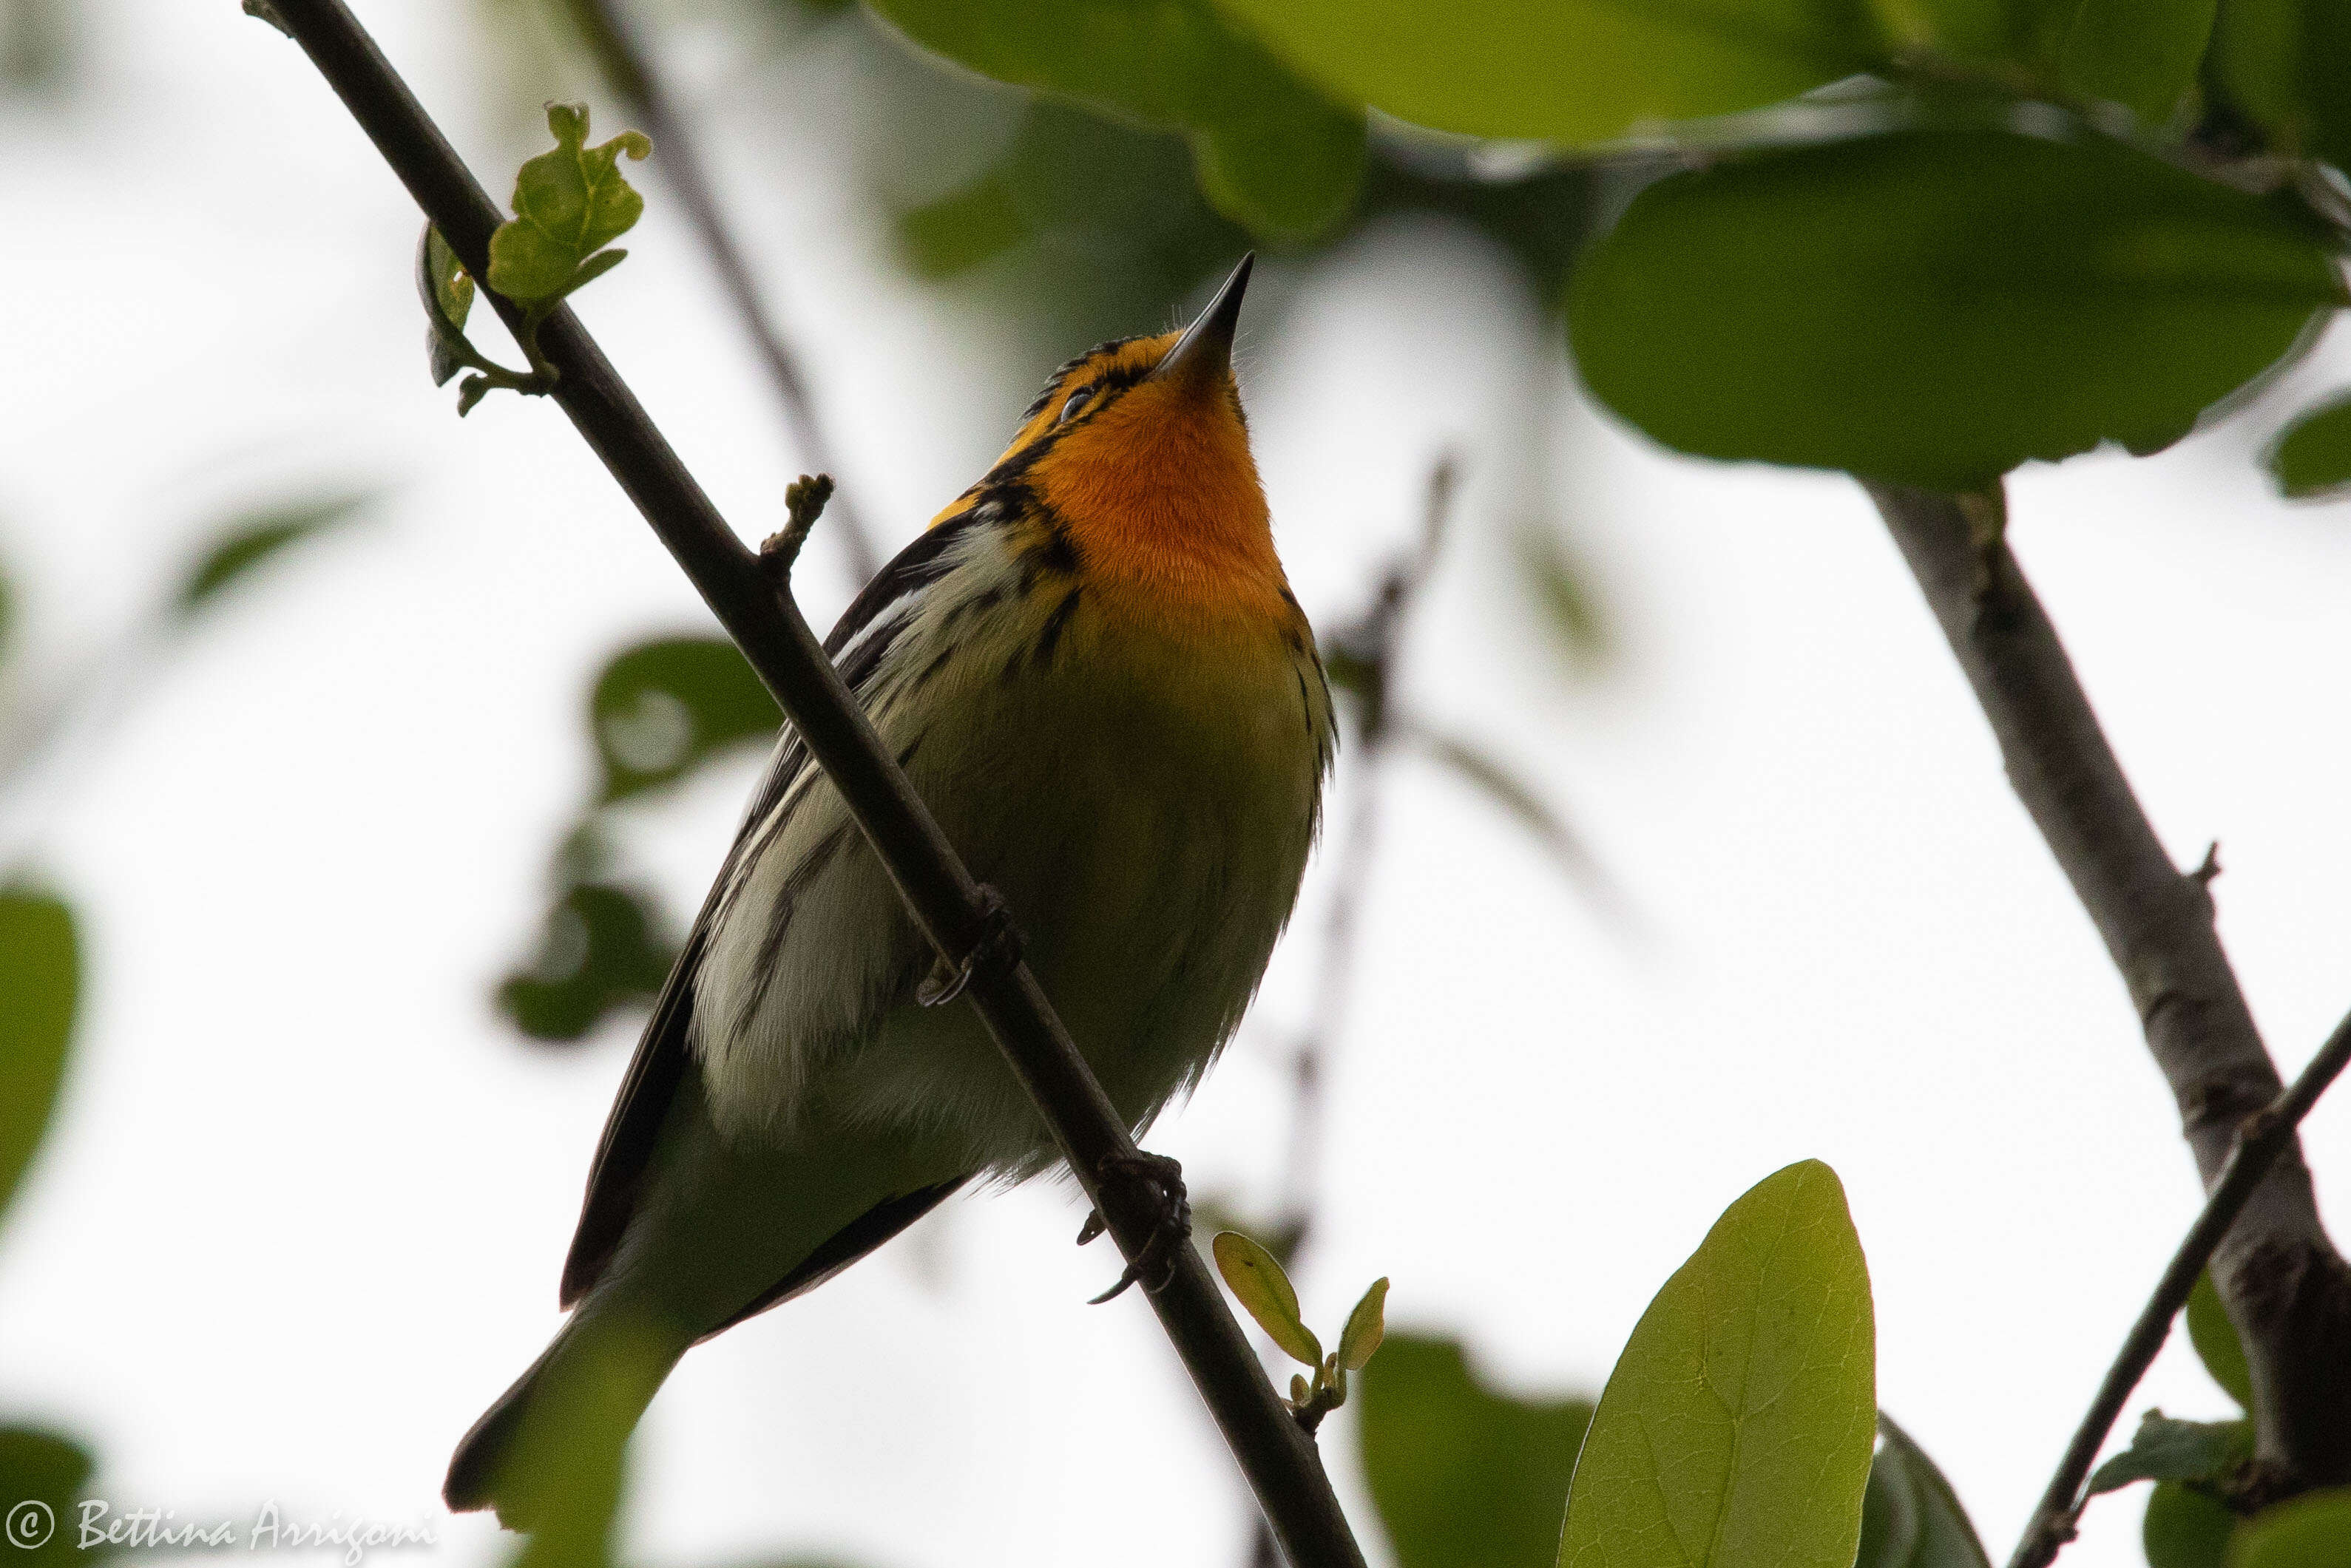
[[[357, 19], [341, 0], [275, 0], [275, 12], [458, 261], [477, 280], [489, 277], [489, 235], [498, 209]], [[482, 294], [508, 324], [520, 324], [510, 301], [487, 287]], [[1086, 1197], [1110, 1220], [1119, 1251], [1138, 1260], [1157, 1232], [1161, 1206], [1147, 1182], [1119, 1178], [1121, 1166], [1136, 1164], [1126, 1126], [1037, 978], [1025, 964], [1002, 959], [1002, 945], [990, 940], [997, 933], [992, 905], [882, 750], [809, 623], [717, 515], [578, 317], [569, 308], [555, 310], [538, 329], [538, 343], [560, 371], [555, 402], [776, 693], [924, 936], [940, 957], [971, 966], [971, 1001], [1053, 1128]], [[1274, 1396], [1199, 1253], [1176, 1248], [1166, 1284], [1147, 1286], [1145, 1295], [1291, 1563], [1364, 1568], [1314, 1443]]]

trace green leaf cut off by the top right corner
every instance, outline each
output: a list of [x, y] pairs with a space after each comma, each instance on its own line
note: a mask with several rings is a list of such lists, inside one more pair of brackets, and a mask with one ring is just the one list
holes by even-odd
[[2351, 5], [2229, 0], [2212, 28], [2212, 75], [2285, 153], [2351, 169]]

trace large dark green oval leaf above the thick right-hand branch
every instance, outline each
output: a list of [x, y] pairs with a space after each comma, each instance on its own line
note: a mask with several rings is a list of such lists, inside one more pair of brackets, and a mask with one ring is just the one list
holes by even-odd
[[2123, 146], [1897, 132], [1650, 186], [1568, 327], [1667, 447], [1956, 491], [2156, 451], [2342, 299], [2304, 221]]

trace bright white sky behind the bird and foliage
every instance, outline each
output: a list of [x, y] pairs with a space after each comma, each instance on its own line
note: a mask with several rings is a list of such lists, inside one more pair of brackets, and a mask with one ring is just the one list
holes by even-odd
[[[501, 186], [465, 12], [364, 14]], [[729, 103], [738, 223], [846, 477], [907, 536], [1018, 407], [938, 388], [1063, 355], [1027, 364], [891, 275], [851, 172], [809, 153], [853, 92], [823, 54], [689, 61], [694, 96]], [[480, 1563], [498, 1542], [440, 1516], [442, 1465], [555, 1328], [630, 1044], [534, 1051], [487, 992], [590, 785], [590, 670], [705, 618], [550, 404], [458, 423], [428, 386], [416, 214], [294, 45], [230, 0], [108, 0], [85, 68], [80, 99], [0, 110], [0, 552], [31, 672], [103, 646], [221, 505], [346, 475], [393, 498], [240, 595], [56, 780], [38, 860], [92, 987], [0, 1234], [0, 1410], [94, 1439], [122, 1507], [435, 1521], [442, 1561]], [[799, 458], [639, 183], [632, 259], [583, 315], [764, 534]], [[1596, 1392], [1714, 1215], [1822, 1157], [1869, 1251], [1881, 1401], [2005, 1554], [2193, 1215], [2170, 1100], [1860, 491], [1657, 454], [1531, 357], [1514, 287], [1453, 230], [1270, 270], [1295, 308], [1246, 336], [1258, 451], [1328, 625], [1413, 527], [1429, 456], [1462, 447], [1413, 705], [1540, 778], [1646, 936], [1601, 929], [1446, 776], [1396, 771], [1310, 1314], [1389, 1274], [1392, 1321], [1465, 1335], [1509, 1387]], [[2346, 374], [2337, 341], [2290, 390]], [[2250, 454], [2290, 402], [2015, 482], [2017, 548], [2165, 842], [2224, 844], [2224, 936], [2285, 1072], [2351, 1006], [2351, 510], [2264, 489]], [[1561, 670], [1512, 581], [1538, 505], [1622, 628], [1601, 684]], [[823, 545], [802, 581], [816, 618], [844, 599]], [[679, 900], [748, 783], [745, 762], [647, 813], [639, 853]], [[1194, 1192], [1270, 1190], [1319, 907], [1317, 872], [1244, 1041], [1154, 1138]], [[2351, 1098], [2306, 1143], [2351, 1234]], [[639, 1556], [1237, 1563], [1227, 1462], [1143, 1302], [1084, 1307], [1114, 1260], [1070, 1246], [1077, 1220], [1056, 1187], [957, 1204], [694, 1352], [639, 1443]], [[2226, 1410], [2184, 1345], [2146, 1403]], [[1328, 1450], [1375, 1537], [1347, 1418]], [[2139, 1561], [2137, 1514], [2099, 1502], [2067, 1561]]]

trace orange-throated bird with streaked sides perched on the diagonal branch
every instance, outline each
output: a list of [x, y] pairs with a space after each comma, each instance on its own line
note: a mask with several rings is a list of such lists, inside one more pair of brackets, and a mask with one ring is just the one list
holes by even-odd
[[[1232, 378], [1248, 266], [1180, 336], [1053, 371], [825, 639], [1136, 1131], [1248, 1006], [1333, 750]], [[571, 1316], [458, 1443], [449, 1507], [545, 1516], [534, 1427], [625, 1429], [694, 1342], [1056, 1161], [978, 1016], [924, 1006], [933, 964], [785, 726], [604, 1124]]]

